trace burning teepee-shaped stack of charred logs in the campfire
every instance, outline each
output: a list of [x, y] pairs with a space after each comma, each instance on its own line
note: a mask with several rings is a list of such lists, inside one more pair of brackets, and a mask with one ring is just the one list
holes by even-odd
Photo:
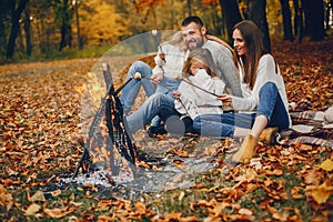
[[131, 135], [127, 132], [123, 108], [118, 98], [118, 93], [131, 80], [140, 79], [141, 75], [135, 73], [134, 77], [114, 90], [108, 63], [102, 63], [102, 72], [107, 85], [107, 94], [102, 99], [92, 120], [87, 142], [83, 140], [79, 141], [83, 148], [83, 153], [73, 178], [78, 175], [80, 169], [82, 169], [82, 173], [89, 176], [90, 171], [93, 170], [90, 152], [97, 148], [102, 150], [104, 159], [107, 160], [107, 169], [111, 171], [113, 176], [120, 176], [120, 173], [124, 170], [132, 174], [137, 171], [137, 147]]

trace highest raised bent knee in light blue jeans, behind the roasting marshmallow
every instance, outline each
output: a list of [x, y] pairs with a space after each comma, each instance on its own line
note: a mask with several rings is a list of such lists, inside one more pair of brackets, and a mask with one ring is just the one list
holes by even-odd
[[134, 104], [134, 100], [137, 99], [141, 85], [143, 87], [147, 97], [152, 95], [157, 88], [151, 84], [150, 82], [150, 77], [152, 75], [152, 69], [150, 65], [142, 61], [135, 61], [133, 64], [130, 67], [127, 80], [134, 75], [135, 72], [139, 72], [141, 74], [141, 79], [133, 79], [128, 83], [121, 92], [120, 95], [120, 102], [123, 107], [123, 112], [127, 114], [128, 112], [131, 111], [132, 105]]

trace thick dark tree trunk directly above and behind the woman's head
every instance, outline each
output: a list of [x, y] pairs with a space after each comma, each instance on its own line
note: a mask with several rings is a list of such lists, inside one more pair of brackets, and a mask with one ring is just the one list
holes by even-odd
[[271, 51], [271, 38], [266, 19], [266, 0], [248, 0], [246, 18], [254, 21], [263, 32], [263, 42], [266, 50]]

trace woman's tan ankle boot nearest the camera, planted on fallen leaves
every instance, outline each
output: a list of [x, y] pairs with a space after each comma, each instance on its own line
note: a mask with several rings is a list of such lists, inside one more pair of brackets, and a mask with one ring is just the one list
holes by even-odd
[[245, 137], [240, 150], [232, 157], [232, 162], [248, 163], [255, 154], [255, 145], [258, 144], [258, 138], [249, 134]]

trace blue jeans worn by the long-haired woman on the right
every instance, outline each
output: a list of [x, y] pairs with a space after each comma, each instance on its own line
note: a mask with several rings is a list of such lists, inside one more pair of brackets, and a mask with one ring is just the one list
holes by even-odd
[[284, 130], [290, 125], [287, 111], [273, 82], [266, 82], [260, 89], [256, 113], [203, 114], [194, 119], [193, 129], [202, 135], [233, 138], [235, 127], [251, 129], [255, 117], [262, 114], [269, 120], [266, 127]]

